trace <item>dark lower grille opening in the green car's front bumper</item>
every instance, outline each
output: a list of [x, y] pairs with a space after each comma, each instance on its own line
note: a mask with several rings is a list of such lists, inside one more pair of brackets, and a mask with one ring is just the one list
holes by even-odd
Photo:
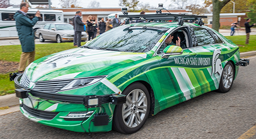
[[36, 110], [35, 108], [29, 108], [24, 104], [22, 107], [26, 112], [29, 113], [29, 115], [35, 116], [37, 118], [42, 118], [45, 120], [52, 120], [58, 114], [58, 112], [47, 112], [47, 111]]

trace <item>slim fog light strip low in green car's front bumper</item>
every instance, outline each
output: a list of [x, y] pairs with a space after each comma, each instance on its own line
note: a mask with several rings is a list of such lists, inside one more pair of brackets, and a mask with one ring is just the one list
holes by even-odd
[[88, 112], [70, 112], [67, 116], [60, 116], [60, 118], [64, 118], [66, 121], [83, 121], [92, 116], [94, 111]]

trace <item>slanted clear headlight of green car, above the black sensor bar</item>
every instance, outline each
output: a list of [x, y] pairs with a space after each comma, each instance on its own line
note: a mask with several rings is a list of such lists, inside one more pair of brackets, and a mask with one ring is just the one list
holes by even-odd
[[90, 86], [94, 83], [99, 82], [106, 76], [98, 76], [98, 77], [89, 77], [89, 78], [78, 78], [70, 83], [68, 83], [65, 87], [63, 87], [61, 90], [69, 90], [73, 88], [79, 88], [79, 87], [85, 87], [85, 86]]

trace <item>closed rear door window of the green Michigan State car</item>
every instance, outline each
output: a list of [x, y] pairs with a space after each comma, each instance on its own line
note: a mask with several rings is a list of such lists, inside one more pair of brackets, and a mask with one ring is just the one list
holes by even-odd
[[198, 41], [198, 46], [205, 46], [209, 44], [214, 44], [214, 38], [211, 34], [204, 28], [193, 27], [196, 39]]

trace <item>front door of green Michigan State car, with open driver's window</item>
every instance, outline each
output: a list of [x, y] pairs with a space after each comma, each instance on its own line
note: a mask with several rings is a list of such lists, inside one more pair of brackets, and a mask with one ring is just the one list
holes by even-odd
[[[178, 32], [178, 35], [175, 35]], [[168, 58], [160, 59], [160, 90], [163, 97], [159, 99], [160, 107], [166, 108], [176, 105], [180, 102], [189, 100], [201, 94], [201, 68], [198, 65], [200, 54], [192, 47], [193, 41], [191, 40], [188, 27], [176, 29], [170, 34], [174, 34], [174, 41], [176, 37], [180, 37], [183, 46], [183, 53], [170, 56]], [[177, 34], [177, 33], [176, 33]], [[165, 39], [168, 37], [166, 36]], [[164, 39], [164, 41], [165, 41]], [[163, 47], [164, 42], [161, 44]], [[159, 48], [158, 56], [162, 56], [163, 52]], [[199, 92], [199, 93], [197, 93]]]

